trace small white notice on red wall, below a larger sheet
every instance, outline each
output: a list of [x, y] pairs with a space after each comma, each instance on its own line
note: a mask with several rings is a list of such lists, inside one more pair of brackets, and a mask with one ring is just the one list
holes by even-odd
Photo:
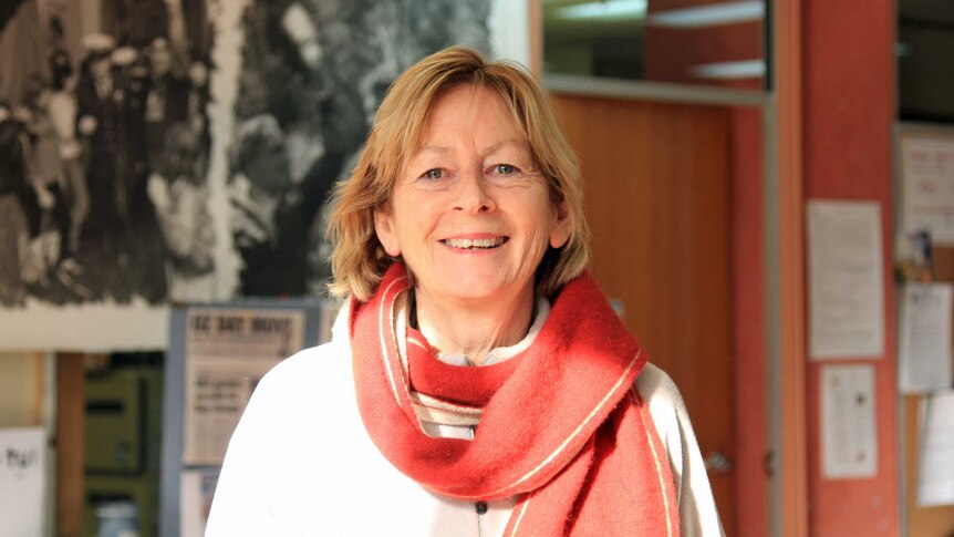
[[821, 426], [826, 479], [878, 473], [874, 366], [828, 365], [821, 370]]

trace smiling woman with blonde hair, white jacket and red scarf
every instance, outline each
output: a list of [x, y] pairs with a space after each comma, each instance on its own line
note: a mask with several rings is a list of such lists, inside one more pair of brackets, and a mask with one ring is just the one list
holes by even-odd
[[332, 215], [334, 339], [259, 384], [207, 535], [719, 535], [678, 391], [585, 271], [580, 182], [523, 71], [401, 75]]

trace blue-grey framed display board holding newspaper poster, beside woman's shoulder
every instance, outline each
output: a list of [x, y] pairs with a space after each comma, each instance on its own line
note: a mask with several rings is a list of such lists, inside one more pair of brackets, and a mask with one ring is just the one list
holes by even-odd
[[240, 300], [172, 308], [165, 362], [159, 535], [200, 535], [228, 441], [259, 380], [329, 340], [338, 304]]

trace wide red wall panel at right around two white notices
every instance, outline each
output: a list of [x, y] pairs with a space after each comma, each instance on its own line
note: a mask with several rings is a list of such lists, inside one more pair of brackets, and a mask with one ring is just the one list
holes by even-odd
[[822, 478], [819, 435], [822, 364], [808, 364], [809, 534], [813, 537], [898, 535], [896, 338], [891, 281], [893, 3], [890, 0], [803, 0], [801, 6], [805, 199], [880, 203], [886, 312], [884, 355], [862, 357], [864, 360], [851, 362], [875, 368], [875, 477]]

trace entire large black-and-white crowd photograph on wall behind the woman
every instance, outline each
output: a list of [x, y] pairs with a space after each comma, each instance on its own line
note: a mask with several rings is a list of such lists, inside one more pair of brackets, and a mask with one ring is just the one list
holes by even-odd
[[449, 44], [494, 54], [499, 3], [4, 1], [0, 319], [321, 297], [384, 92]]

